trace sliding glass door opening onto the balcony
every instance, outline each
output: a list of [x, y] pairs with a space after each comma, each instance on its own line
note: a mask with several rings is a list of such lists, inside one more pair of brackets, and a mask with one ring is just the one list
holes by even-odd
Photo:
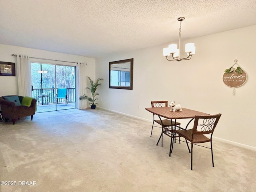
[[76, 108], [75, 66], [31, 62], [37, 112]]

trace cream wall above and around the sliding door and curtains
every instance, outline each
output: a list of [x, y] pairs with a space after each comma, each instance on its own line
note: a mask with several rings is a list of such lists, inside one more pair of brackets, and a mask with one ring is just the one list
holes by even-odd
[[[36, 58], [46, 58], [46, 59], [54, 59], [54, 60], [62, 60], [69, 62], [83, 62], [85, 67], [85, 78], [86, 76], [90, 76], [93, 80], [95, 79], [95, 59], [87, 58], [83, 56], [76, 56], [70, 54], [63, 54], [57, 52], [50, 52], [38, 49], [24, 48], [18, 46], [4, 45], [0, 44], [0, 61], [4, 62], [13, 62], [15, 66], [17, 64], [17, 58], [12, 56], [12, 54], [24, 54], [30, 57]], [[54, 64], [63, 64], [63, 65], [75, 65], [66, 62], [55, 62], [55, 61], [47, 61], [47, 60], [36, 60], [30, 59], [30, 61], [41, 61], [44, 63], [54, 63]], [[16, 74], [17, 74], [17, 66], [16, 66]], [[16, 76], [0, 76], [0, 96], [4, 95], [16, 95], [18, 94], [18, 82], [17, 75]]]

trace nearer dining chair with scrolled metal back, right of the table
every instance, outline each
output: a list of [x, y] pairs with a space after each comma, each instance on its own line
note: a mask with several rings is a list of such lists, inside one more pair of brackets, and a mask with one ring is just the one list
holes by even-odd
[[[194, 127], [192, 129], [174, 130], [175, 133], [184, 137], [186, 139], [186, 142], [187, 140], [191, 142], [191, 170], [192, 170], [192, 162], [193, 162], [193, 144], [210, 142], [211, 147], [210, 148], [206, 147], [206, 148], [211, 149], [211, 152], [212, 152], [212, 134], [220, 119], [220, 116], [221, 114], [208, 115], [208, 116], [196, 116], [194, 120]], [[210, 134], [210, 137], [206, 137], [205, 136], [206, 134]], [[212, 166], [214, 167], [213, 153], [212, 153]]]

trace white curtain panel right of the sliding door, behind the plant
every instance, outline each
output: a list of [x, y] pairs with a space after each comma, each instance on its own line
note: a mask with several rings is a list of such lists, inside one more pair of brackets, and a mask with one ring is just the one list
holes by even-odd
[[83, 63], [76, 65], [76, 108], [87, 108], [87, 100], [79, 100], [81, 95], [86, 94], [86, 81], [85, 81], [85, 66]]

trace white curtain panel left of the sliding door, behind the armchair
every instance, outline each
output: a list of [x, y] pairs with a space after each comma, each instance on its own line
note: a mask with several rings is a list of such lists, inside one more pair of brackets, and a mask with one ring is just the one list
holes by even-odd
[[29, 57], [17, 54], [18, 95], [31, 96], [31, 69]]

